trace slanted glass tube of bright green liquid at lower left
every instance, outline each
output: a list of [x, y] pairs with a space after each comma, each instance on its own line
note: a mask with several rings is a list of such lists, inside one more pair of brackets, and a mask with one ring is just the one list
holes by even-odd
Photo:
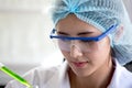
[[14, 72], [10, 70], [8, 67], [6, 67], [3, 64], [0, 63], [0, 70], [2, 70], [3, 73], [6, 73], [7, 75], [9, 75], [10, 77], [14, 78], [15, 80], [18, 80], [19, 82], [23, 84], [24, 86], [26, 86], [28, 88], [32, 88], [32, 86], [21, 76], [19, 76], [18, 74], [15, 74]]

